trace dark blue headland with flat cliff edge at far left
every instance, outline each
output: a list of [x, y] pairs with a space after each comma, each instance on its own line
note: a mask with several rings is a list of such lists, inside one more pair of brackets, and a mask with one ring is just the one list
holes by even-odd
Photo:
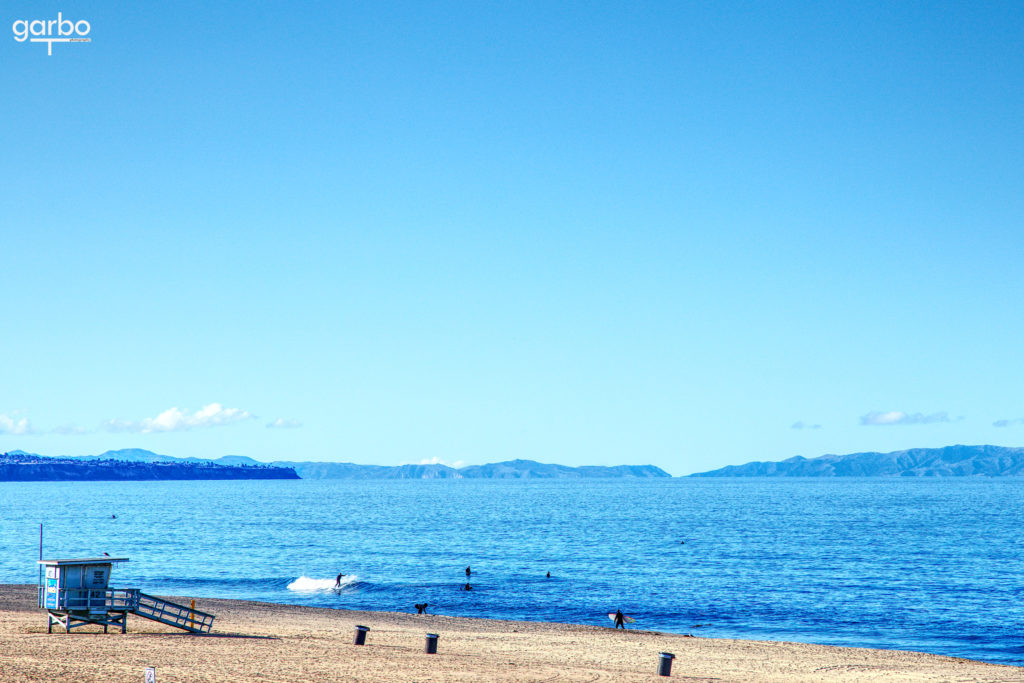
[[[105, 455], [105, 454], [104, 454]], [[104, 456], [48, 458], [15, 451], [0, 455], [0, 481], [154, 481], [181, 479], [298, 479], [288, 467], [211, 462], [124, 461]]]

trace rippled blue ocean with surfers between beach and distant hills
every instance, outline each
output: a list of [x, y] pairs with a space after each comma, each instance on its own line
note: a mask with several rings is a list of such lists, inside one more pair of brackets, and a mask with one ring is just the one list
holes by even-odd
[[0, 583], [36, 583], [42, 523], [45, 557], [129, 557], [112, 585], [158, 595], [595, 626], [622, 609], [1024, 665], [1022, 501], [1024, 479], [9, 482]]

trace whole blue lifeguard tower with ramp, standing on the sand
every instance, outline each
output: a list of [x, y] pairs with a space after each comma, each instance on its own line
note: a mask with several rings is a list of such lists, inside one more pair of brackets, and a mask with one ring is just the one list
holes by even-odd
[[[160, 622], [190, 633], [209, 633], [213, 614], [142, 593], [137, 588], [110, 588], [111, 569], [127, 557], [84, 557], [39, 560], [39, 606], [47, 611], [46, 632], [53, 625], [65, 633], [88, 624], [98, 624], [108, 633], [111, 626], [128, 630], [128, 614]], [[195, 603], [194, 603], [195, 604]]]

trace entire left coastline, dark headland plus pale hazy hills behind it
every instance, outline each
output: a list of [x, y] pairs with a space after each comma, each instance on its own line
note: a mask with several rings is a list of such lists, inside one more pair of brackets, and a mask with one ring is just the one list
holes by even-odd
[[[135, 479], [612, 479], [671, 477], [653, 465], [549, 465], [510, 460], [454, 468], [447, 465], [356, 465], [308, 461], [261, 463], [245, 456], [212, 460], [174, 458], [142, 449], [98, 456], [47, 457], [13, 451], [0, 456], [0, 481]], [[27, 478], [33, 477], [33, 478]]]

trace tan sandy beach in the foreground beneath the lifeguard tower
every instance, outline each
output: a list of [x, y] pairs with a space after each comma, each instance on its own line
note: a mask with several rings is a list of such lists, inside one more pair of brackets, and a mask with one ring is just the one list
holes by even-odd
[[[35, 586], [0, 586], [0, 680], [142, 681], [1022, 681], [1024, 668], [801, 643], [694, 638], [566, 624], [359, 612], [199, 599], [194, 636], [129, 616], [128, 633], [46, 633]], [[355, 625], [370, 628], [352, 644]], [[436, 654], [425, 634], [440, 636]]]

